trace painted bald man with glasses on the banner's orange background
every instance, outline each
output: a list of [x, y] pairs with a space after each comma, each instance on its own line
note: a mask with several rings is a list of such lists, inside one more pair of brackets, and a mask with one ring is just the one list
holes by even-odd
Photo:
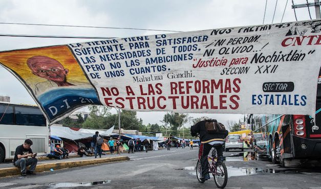
[[27, 60], [27, 65], [32, 74], [47, 79], [47, 81], [37, 83], [34, 86], [35, 95], [41, 95], [41, 93], [52, 87], [88, 85], [86, 83], [67, 82], [69, 69], [63, 67], [59, 61], [47, 56], [33, 56]]

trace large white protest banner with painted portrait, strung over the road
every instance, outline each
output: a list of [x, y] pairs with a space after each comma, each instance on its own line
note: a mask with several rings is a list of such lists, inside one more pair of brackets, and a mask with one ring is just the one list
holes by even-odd
[[75, 109], [315, 112], [321, 21], [7, 51], [0, 62], [53, 123]]

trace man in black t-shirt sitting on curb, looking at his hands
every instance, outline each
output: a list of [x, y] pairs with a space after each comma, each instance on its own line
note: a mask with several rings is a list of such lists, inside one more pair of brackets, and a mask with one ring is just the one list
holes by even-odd
[[[37, 166], [37, 159], [35, 158], [37, 153], [33, 154], [31, 150], [32, 141], [26, 139], [25, 143], [18, 146], [15, 150], [14, 155], [14, 166], [21, 169], [21, 175], [35, 175], [34, 171]], [[31, 157], [31, 158], [28, 158]], [[30, 169], [27, 171], [27, 166], [30, 166]]]

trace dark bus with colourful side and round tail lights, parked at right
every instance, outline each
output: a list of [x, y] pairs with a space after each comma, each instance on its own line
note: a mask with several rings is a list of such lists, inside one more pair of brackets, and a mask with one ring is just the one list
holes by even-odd
[[[307, 115], [249, 115], [257, 157], [282, 166], [321, 162], [321, 72], [318, 79], [315, 120]], [[314, 125], [315, 122], [315, 125]]]

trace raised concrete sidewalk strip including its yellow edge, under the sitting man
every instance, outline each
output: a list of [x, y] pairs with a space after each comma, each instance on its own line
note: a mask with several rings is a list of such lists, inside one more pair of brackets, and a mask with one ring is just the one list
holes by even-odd
[[[89, 157], [74, 157], [69, 159], [52, 159], [52, 160], [38, 160], [35, 172], [50, 171], [50, 169], [58, 170], [65, 168], [74, 168], [81, 166], [88, 166], [90, 164], [108, 163], [115, 161], [126, 161], [130, 160], [129, 157], [123, 155], [103, 155], [101, 158], [95, 158], [94, 156]], [[0, 164], [0, 177], [7, 177], [13, 175], [19, 175], [20, 170], [12, 163], [1, 163]]]

